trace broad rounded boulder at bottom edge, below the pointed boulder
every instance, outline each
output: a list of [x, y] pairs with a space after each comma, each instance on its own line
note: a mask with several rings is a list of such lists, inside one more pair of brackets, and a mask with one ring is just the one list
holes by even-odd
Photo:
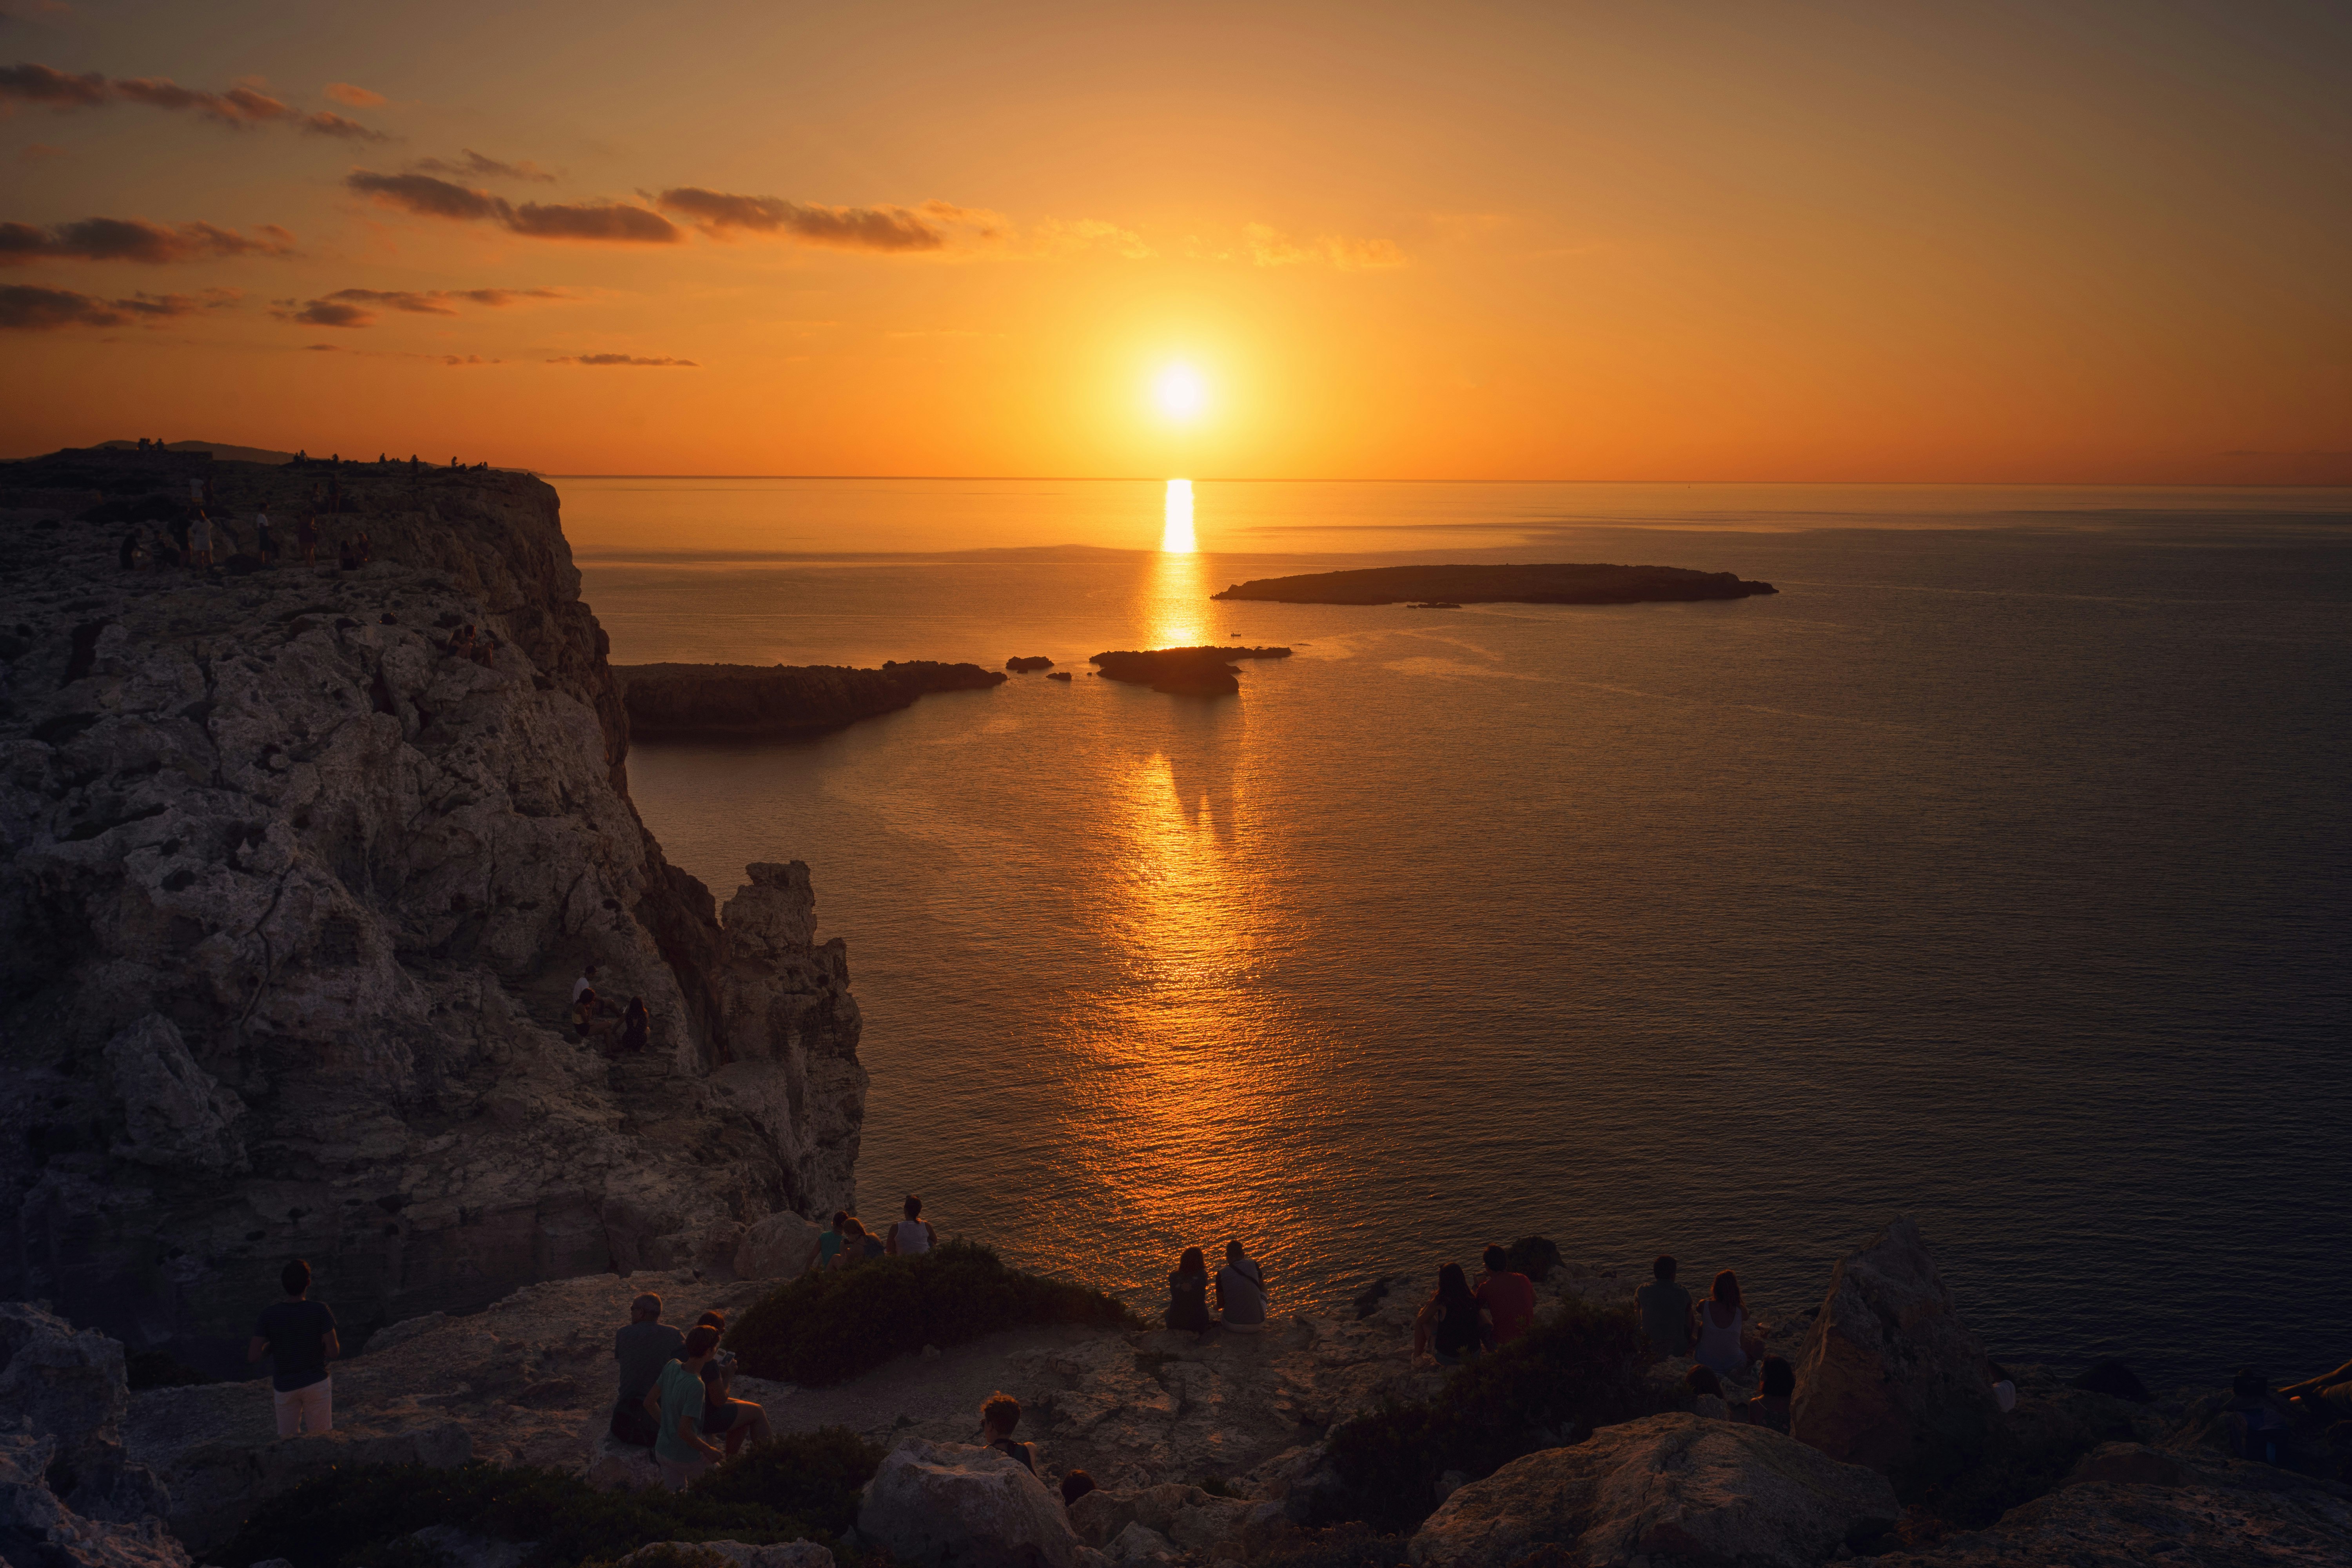
[[1428, 1568], [1508, 1568], [1541, 1547], [1569, 1563], [1811, 1568], [1891, 1528], [1893, 1488], [1766, 1427], [1649, 1415], [1472, 1481], [1411, 1540]]

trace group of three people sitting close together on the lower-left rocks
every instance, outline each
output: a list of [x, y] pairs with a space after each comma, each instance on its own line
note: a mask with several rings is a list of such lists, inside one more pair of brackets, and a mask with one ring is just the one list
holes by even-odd
[[628, 1309], [628, 1328], [612, 1335], [621, 1363], [621, 1399], [612, 1434], [652, 1448], [661, 1481], [673, 1493], [739, 1453], [746, 1441], [774, 1436], [767, 1410], [734, 1399], [734, 1352], [720, 1349], [724, 1312], [706, 1312], [680, 1333], [661, 1321], [661, 1298], [647, 1291]]

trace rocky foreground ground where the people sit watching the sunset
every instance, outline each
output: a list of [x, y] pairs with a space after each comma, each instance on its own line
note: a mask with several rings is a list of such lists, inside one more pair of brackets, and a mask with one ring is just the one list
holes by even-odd
[[[5, 1307], [0, 1396], [31, 1420], [0, 1436], [0, 1552], [31, 1542], [45, 1556], [12, 1561], [181, 1568], [263, 1497], [353, 1462], [482, 1460], [572, 1469], [602, 1488], [649, 1483], [640, 1450], [602, 1439], [628, 1298], [656, 1288], [675, 1321], [731, 1312], [771, 1286], [724, 1274], [795, 1272], [811, 1244], [814, 1229], [774, 1218], [713, 1237], [699, 1274], [550, 1281], [480, 1314], [397, 1324], [336, 1366], [339, 1429], [289, 1441], [270, 1436], [261, 1385], [125, 1396], [118, 1345]], [[1566, 1267], [1543, 1295], [1606, 1307], [1630, 1288]], [[2230, 1458], [2225, 1394], [2136, 1403], [2006, 1368], [2016, 1408], [1999, 1410], [1990, 1387], [1980, 1408], [1940, 1403], [1973, 1392], [1983, 1352], [1900, 1222], [1839, 1267], [1811, 1324], [1790, 1331], [1799, 1342], [1778, 1347], [1797, 1363], [1799, 1394], [1816, 1389], [1792, 1436], [1712, 1415], [1682, 1394], [1691, 1363], [1665, 1361], [1649, 1368], [1656, 1415], [1550, 1434], [1486, 1476], [1446, 1474], [1406, 1509], [1421, 1519], [1409, 1535], [1378, 1537], [1345, 1523], [1348, 1481], [1327, 1436], [1350, 1415], [1411, 1408], [1444, 1387], [1409, 1354], [1414, 1307], [1388, 1295], [1362, 1316], [1294, 1316], [1261, 1338], [1018, 1331], [830, 1389], [739, 1378], [736, 1394], [760, 1399], [779, 1429], [847, 1425], [887, 1446], [849, 1544], [924, 1568], [2352, 1561], [2352, 1488], [2310, 1465]], [[993, 1389], [1023, 1401], [1018, 1436], [1037, 1446], [1044, 1483], [971, 1446], [976, 1403]], [[1837, 1443], [1849, 1458], [1830, 1453]], [[1936, 1479], [1922, 1481], [1915, 1467], [1929, 1462]], [[1101, 1490], [1063, 1509], [1049, 1483], [1070, 1469]], [[494, 1561], [494, 1542], [442, 1544]], [[720, 1556], [823, 1568], [811, 1544], [720, 1542]]]

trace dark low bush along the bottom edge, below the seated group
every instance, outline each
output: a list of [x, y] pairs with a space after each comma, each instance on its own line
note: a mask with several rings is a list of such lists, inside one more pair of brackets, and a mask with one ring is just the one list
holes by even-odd
[[880, 1465], [880, 1448], [837, 1427], [760, 1443], [684, 1493], [600, 1493], [555, 1469], [355, 1465], [263, 1502], [209, 1561], [430, 1568], [430, 1554], [405, 1537], [435, 1523], [536, 1542], [524, 1568], [612, 1561], [663, 1540], [816, 1540], [844, 1556], [837, 1537]]

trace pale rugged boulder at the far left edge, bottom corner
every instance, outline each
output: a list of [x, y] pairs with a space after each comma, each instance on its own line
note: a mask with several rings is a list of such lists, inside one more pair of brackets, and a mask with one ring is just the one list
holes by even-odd
[[122, 1345], [31, 1302], [0, 1302], [0, 1410], [56, 1443], [47, 1483], [82, 1519], [136, 1523], [172, 1495], [122, 1453]]

